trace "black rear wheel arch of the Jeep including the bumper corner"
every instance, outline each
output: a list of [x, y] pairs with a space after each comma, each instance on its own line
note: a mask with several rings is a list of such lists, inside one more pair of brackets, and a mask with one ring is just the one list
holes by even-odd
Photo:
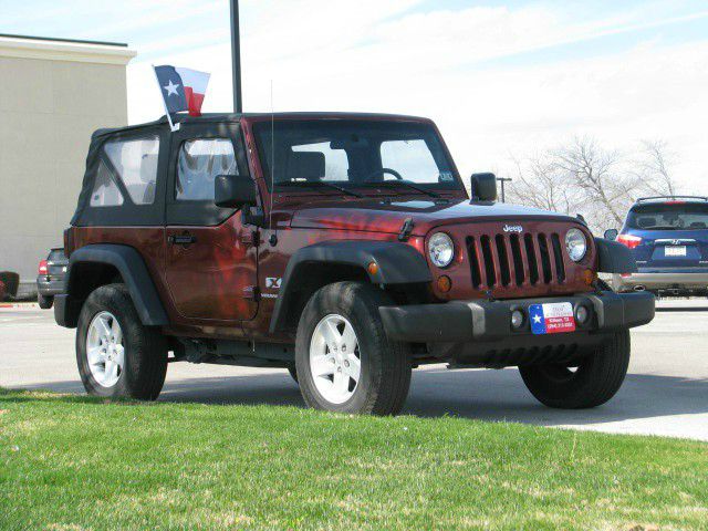
[[96, 243], [71, 253], [63, 295], [55, 298], [54, 315], [63, 326], [75, 327], [83, 301], [96, 288], [119, 279], [131, 294], [140, 322], [146, 326], [169, 324], [147, 266], [133, 247]]

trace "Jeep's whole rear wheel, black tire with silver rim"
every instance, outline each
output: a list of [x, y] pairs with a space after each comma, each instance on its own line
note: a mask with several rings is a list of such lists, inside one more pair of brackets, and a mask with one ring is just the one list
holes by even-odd
[[91, 395], [154, 400], [165, 383], [167, 343], [143, 326], [125, 285], [103, 285], [81, 310], [76, 363]]

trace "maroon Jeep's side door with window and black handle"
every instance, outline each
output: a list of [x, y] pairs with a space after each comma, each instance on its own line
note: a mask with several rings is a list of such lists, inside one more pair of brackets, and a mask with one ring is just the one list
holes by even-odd
[[238, 322], [258, 310], [253, 227], [214, 204], [217, 176], [248, 175], [242, 146], [237, 124], [183, 124], [171, 137], [165, 277], [175, 309], [189, 321]]

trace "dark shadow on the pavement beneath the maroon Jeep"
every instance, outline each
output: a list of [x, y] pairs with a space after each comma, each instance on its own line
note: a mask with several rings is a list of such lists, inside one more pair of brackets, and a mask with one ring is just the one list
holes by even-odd
[[[77, 382], [54, 382], [25, 388], [83, 392]], [[177, 382], [170, 382], [168, 377], [159, 402], [304, 407], [298, 385], [285, 371]], [[435, 366], [414, 372], [403, 414], [542, 426], [603, 425], [700, 415], [708, 414], [708, 379], [628, 374], [610, 403], [593, 409], [563, 410], [539, 404], [527, 391], [517, 369], [448, 371]]]

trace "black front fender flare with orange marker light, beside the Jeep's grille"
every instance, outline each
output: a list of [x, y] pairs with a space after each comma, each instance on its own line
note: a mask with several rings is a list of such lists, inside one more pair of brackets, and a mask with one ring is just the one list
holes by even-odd
[[[375, 263], [376, 268], [369, 268]], [[270, 333], [298, 326], [308, 300], [320, 288], [345, 280], [383, 287], [433, 281], [425, 258], [395, 241], [333, 241], [299, 249], [288, 262], [270, 322]]]

